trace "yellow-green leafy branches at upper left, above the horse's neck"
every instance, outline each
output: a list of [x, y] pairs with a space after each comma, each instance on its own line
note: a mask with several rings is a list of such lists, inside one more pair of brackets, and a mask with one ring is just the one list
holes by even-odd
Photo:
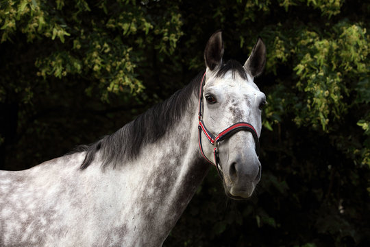
[[[69, 75], [89, 78], [91, 84], [86, 92], [98, 89], [104, 102], [109, 102], [110, 93], [142, 93], [144, 86], [135, 68], [147, 59], [143, 50], [155, 47], [162, 56], [170, 56], [182, 36], [181, 15], [175, 5], [163, 16], [148, 14], [149, 5], [136, 5], [135, 1], [101, 1], [94, 11], [83, 0], [2, 4], [5, 8], [0, 10], [1, 43], [21, 30], [29, 43], [37, 38], [49, 43], [49, 47], [58, 47], [58, 51], [46, 49], [36, 56], [34, 62], [39, 70], [30, 73], [37, 73], [44, 80], [60, 80]], [[114, 34], [115, 30], [120, 33]]]

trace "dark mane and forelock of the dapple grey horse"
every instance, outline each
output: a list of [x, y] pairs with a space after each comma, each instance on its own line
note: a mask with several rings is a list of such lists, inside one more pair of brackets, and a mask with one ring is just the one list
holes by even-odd
[[[237, 72], [241, 78], [247, 79], [247, 72], [235, 60], [220, 64], [216, 76], [223, 77], [230, 70], [233, 73], [233, 78]], [[98, 151], [101, 152], [103, 158], [103, 167], [109, 164], [116, 167], [125, 158], [129, 161], [137, 158], [143, 145], [158, 141], [169, 128], [181, 119], [190, 105], [189, 101], [192, 99], [193, 93], [199, 97], [199, 84], [203, 74], [204, 71], [199, 73], [184, 89], [180, 89], [164, 102], [149, 108], [113, 134], [103, 137], [96, 143], [80, 145], [75, 148], [71, 153], [86, 152], [80, 168], [86, 169], [93, 162]]]

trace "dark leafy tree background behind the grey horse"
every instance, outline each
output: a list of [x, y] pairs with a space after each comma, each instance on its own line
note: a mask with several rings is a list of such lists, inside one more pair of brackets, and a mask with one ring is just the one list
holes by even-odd
[[370, 246], [370, 3], [0, 1], [0, 168], [109, 134], [256, 38], [267, 68], [262, 180], [225, 198], [213, 170], [164, 246]]

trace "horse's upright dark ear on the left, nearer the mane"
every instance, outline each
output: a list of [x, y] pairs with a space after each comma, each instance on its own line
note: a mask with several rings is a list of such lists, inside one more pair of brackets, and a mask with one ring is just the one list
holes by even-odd
[[222, 32], [218, 31], [210, 36], [206, 49], [204, 50], [204, 60], [206, 66], [212, 71], [222, 62], [223, 40]]

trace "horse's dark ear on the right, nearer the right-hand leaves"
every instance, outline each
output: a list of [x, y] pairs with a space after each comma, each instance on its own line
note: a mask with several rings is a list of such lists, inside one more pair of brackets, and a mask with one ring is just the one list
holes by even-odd
[[266, 46], [264, 45], [262, 38], [258, 37], [256, 45], [254, 45], [251, 55], [244, 64], [245, 69], [256, 77], [260, 75], [266, 64]]

